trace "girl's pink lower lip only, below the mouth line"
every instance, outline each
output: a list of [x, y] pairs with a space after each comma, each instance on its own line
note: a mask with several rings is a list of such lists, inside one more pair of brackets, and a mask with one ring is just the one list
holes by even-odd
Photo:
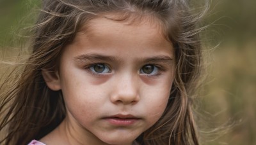
[[132, 125], [139, 121], [138, 118], [106, 118], [106, 120], [113, 124], [113, 125], [118, 125], [118, 126], [127, 126], [127, 125]]

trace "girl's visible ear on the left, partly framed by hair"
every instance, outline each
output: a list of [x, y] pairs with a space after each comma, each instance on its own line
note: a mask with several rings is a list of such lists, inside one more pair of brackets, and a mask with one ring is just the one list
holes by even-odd
[[42, 75], [47, 86], [54, 91], [61, 90], [60, 76], [57, 72], [42, 70]]

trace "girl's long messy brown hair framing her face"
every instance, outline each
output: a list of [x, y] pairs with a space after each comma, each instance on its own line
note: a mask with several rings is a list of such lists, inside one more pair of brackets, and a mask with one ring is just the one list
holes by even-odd
[[[22, 73], [0, 85], [0, 144], [28, 144], [60, 125], [66, 110], [61, 90], [49, 89], [42, 70], [56, 72], [63, 48], [90, 20], [105, 14], [151, 17], [175, 50], [175, 76], [163, 116], [143, 132], [140, 144], [199, 144], [193, 100], [202, 66], [202, 48], [197, 22], [188, 0], [44, 0], [33, 27], [31, 55]], [[15, 72], [15, 71], [14, 71]], [[14, 75], [13, 72], [13, 75]], [[7, 78], [11, 78], [8, 76]], [[6, 79], [7, 81], [8, 79]], [[10, 84], [10, 83], [9, 83]], [[2, 133], [1, 133], [2, 134]]]

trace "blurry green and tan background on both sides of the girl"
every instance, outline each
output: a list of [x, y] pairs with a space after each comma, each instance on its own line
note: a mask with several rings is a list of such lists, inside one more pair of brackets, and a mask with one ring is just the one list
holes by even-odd
[[[33, 3], [38, 1], [0, 0], [1, 49], [13, 46], [15, 30], [29, 25], [21, 20]], [[206, 144], [256, 144], [256, 1], [212, 0], [204, 24], [211, 22], [202, 37], [208, 61], [202, 109], [211, 114], [213, 128], [235, 125], [221, 130], [225, 135], [212, 134], [216, 140]]]

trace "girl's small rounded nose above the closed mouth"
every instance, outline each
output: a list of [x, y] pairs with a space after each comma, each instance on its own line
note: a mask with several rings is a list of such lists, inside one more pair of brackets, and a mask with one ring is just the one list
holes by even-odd
[[111, 102], [114, 104], [136, 104], [140, 100], [138, 78], [132, 76], [122, 76], [115, 79]]

